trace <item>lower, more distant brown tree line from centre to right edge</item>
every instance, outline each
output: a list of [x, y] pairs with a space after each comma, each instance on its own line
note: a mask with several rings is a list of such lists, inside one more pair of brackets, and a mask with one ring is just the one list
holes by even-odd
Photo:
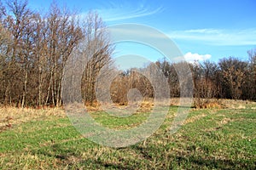
[[[229, 57], [220, 59], [218, 63], [209, 60], [195, 61], [194, 63], [171, 63], [167, 59], [160, 59], [143, 70], [150, 71], [151, 65], [158, 65], [162, 74], [167, 78], [170, 98], [178, 98], [181, 84], [176, 68], [189, 65], [193, 78], [195, 107], [203, 107], [207, 102], [211, 102], [211, 99], [256, 101], [256, 49], [249, 50], [247, 54], [248, 60]], [[126, 94], [131, 88], [139, 89], [145, 98], [154, 98], [154, 88], [150, 85], [148, 78], [131, 69], [124, 71], [114, 79], [112, 84], [113, 102], [127, 104]]]

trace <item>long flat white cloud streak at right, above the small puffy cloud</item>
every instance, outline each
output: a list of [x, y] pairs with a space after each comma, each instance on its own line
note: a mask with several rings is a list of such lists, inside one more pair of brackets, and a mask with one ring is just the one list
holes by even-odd
[[168, 36], [177, 40], [196, 41], [216, 46], [241, 46], [256, 44], [256, 29], [218, 30], [196, 29], [170, 31]]

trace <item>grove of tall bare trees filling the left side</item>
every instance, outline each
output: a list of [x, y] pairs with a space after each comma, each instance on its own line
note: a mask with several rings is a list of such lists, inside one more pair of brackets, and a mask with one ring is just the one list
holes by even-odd
[[[75, 11], [60, 8], [56, 3], [41, 14], [28, 8], [26, 0], [0, 1], [0, 11], [2, 105], [62, 105], [63, 68], [81, 40], [85, 57], [90, 59], [84, 71], [83, 91], [93, 93], [90, 82], [112, 53], [98, 14], [89, 12], [80, 18]], [[86, 96], [87, 100], [93, 99]]]

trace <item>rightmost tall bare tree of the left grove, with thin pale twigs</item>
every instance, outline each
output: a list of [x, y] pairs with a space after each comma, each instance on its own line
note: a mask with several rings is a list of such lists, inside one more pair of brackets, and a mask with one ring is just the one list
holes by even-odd
[[104, 65], [109, 65], [113, 46], [109, 42], [108, 31], [102, 18], [90, 12], [83, 22], [84, 33], [84, 67], [82, 79], [82, 94], [85, 103], [92, 104], [96, 101], [96, 77]]

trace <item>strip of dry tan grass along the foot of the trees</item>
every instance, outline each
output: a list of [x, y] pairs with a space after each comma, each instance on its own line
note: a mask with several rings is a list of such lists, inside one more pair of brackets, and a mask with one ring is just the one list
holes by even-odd
[[[194, 99], [195, 101], [198, 99]], [[195, 106], [195, 109], [256, 109], [256, 102], [247, 101], [247, 100], [232, 100], [232, 99], [200, 99], [202, 105]], [[153, 99], [143, 100], [141, 103], [131, 103], [129, 105], [117, 105], [117, 104], [103, 104], [104, 109], [119, 109], [128, 111], [131, 110], [137, 112], [148, 112], [152, 111], [154, 107]], [[179, 98], [172, 98], [170, 100], [164, 100], [162, 102], [158, 102], [155, 105], [180, 105]], [[102, 107], [100, 104], [94, 102], [92, 105], [86, 105], [87, 111], [101, 111]], [[13, 127], [14, 125], [20, 124], [22, 122], [29, 122], [32, 120], [38, 119], [47, 119], [50, 116], [66, 116], [65, 111], [61, 108], [47, 108], [47, 109], [39, 109], [35, 110], [32, 108], [15, 108], [15, 107], [2, 107], [0, 108], [0, 132]], [[204, 116], [204, 115], [201, 115]], [[186, 120], [188, 122], [195, 122], [197, 119], [201, 117], [191, 117]]]

